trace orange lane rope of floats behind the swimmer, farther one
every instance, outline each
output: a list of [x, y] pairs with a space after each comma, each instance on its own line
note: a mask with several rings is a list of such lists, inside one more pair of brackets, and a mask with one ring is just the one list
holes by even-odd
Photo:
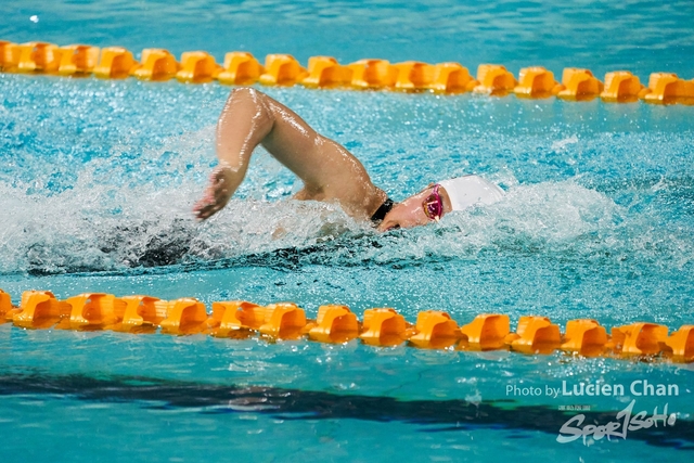
[[223, 85], [291, 87], [311, 89], [430, 91], [441, 94], [476, 92], [493, 97], [514, 93], [524, 99], [556, 97], [566, 101], [588, 101], [600, 97], [605, 102], [694, 105], [694, 79], [672, 73], [653, 73], [648, 87], [627, 70], [609, 72], [605, 83], [589, 69], [566, 67], [562, 82], [542, 66], [524, 67], [518, 79], [500, 64], [480, 64], [473, 78], [460, 63], [423, 63], [365, 59], [343, 65], [333, 56], [311, 56], [307, 68], [291, 54], [268, 54], [265, 65], [245, 51], [231, 51], [223, 65], [205, 51], [185, 52], [181, 61], [164, 49], [145, 49], [140, 62], [123, 47], [99, 49], [87, 44], [59, 47], [33, 41], [13, 43], [0, 40], [0, 72], [89, 76], [102, 79], [162, 81], [176, 78], [185, 83], [217, 80]]

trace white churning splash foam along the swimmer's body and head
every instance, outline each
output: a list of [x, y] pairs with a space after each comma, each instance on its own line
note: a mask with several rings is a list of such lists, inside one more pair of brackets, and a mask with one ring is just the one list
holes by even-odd
[[[142, 171], [127, 173], [118, 163], [111, 163], [116, 181], [99, 181], [101, 160], [87, 165], [72, 189], [54, 194], [27, 194], [26, 188], [1, 183], [11, 214], [0, 230], [0, 271], [118, 271], [224, 259], [270, 266], [416, 265], [488, 252], [584, 259], [627, 255], [635, 247], [647, 254], [643, 240], [633, 239], [639, 223], [629, 223], [621, 206], [575, 180], [517, 184], [506, 173], [498, 180], [511, 187], [494, 205], [450, 214], [439, 224], [378, 234], [337, 205], [288, 198], [296, 187], [269, 185], [277, 166], [265, 170], [274, 162], [259, 157], [240, 197], [202, 224], [190, 210], [201, 193], [195, 179], [207, 166], [190, 157], [165, 162], [159, 156], [165, 167], [155, 176], [145, 172], [154, 178], [147, 183], [139, 179]], [[253, 197], [262, 191], [264, 197]], [[674, 247], [681, 246], [691, 254], [685, 243]]]

